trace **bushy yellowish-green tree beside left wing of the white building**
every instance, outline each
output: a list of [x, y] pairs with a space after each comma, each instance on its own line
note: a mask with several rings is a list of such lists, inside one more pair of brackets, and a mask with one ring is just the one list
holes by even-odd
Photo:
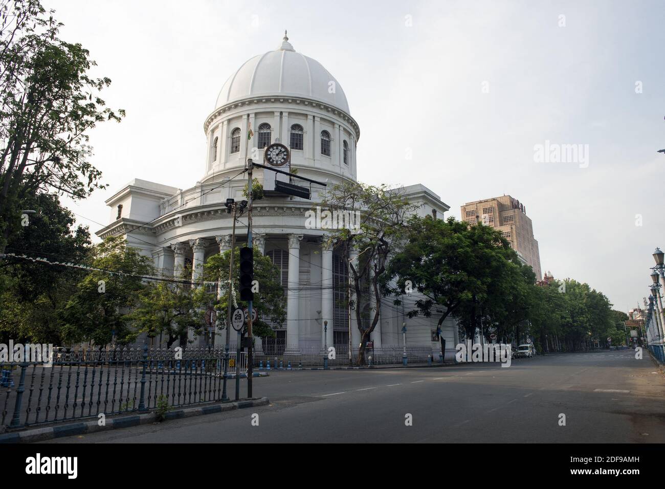
[[128, 247], [122, 237], [106, 238], [92, 251], [90, 270], [62, 311], [63, 339], [69, 343], [111, 341], [124, 345], [136, 339], [131, 309], [152, 276], [152, 260]]

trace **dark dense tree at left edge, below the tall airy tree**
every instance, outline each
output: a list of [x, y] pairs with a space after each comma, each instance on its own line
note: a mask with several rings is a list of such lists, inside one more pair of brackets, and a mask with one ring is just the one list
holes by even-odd
[[[55, 194], [28, 195], [24, 209], [37, 210], [9, 236], [7, 252], [50, 261], [81, 263], [90, 251], [88, 229], [74, 229], [73, 214]], [[84, 271], [74, 267], [11, 258], [0, 263], [0, 343], [61, 344], [59, 311]]]

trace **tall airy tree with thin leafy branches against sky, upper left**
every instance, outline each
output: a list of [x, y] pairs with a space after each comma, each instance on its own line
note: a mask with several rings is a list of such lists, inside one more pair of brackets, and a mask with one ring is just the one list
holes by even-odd
[[53, 13], [38, 0], [0, 0], [0, 252], [27, 196], [81, 199], [103, 188], [87, 132], [124, 116], [98, 96], [110, 79], [88, 76], [96, 63], [80, 44], [59, 39]]

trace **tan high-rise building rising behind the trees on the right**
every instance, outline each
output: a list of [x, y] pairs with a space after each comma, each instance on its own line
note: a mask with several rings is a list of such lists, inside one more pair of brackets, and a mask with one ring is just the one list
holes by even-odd
[[538, 242], [533, 237], [531, 219], [527, 217], [524, 204], [511, 196], [467, 202], [462, 206], [462, 220], [469, 224], [482, 222], [501, 232], [523, 263], [529, 265], [541, 279]]

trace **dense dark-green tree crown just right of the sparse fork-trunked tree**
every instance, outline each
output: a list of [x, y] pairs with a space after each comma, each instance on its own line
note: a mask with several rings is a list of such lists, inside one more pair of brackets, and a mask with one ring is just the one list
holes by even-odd
[[406, 238], [388, 265], [384, 288], [400, 296], [410, 283], [422, 294], [409, 317], [430, 317], [440, 309], [438, 325], [452, 315], [470, 338], [481, 324], [485, 333], [512, 336], [515, 325], [528, 319], [535, 276], [493, 228], [414, 216]]

